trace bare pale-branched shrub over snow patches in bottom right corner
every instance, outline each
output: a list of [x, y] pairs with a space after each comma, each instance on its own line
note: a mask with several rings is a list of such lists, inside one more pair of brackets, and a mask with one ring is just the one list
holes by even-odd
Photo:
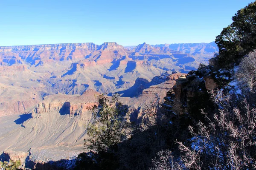
[[181, 142], [181, 160], [189, 169], [253, 169], [256, 168], [256, 109], [244, 100], [241, 109], [230, 105], [230, 96], [220, 91], [213, 95], [219, 110], [206, 124], [196, 129], [189, 126], [192, 138]]

